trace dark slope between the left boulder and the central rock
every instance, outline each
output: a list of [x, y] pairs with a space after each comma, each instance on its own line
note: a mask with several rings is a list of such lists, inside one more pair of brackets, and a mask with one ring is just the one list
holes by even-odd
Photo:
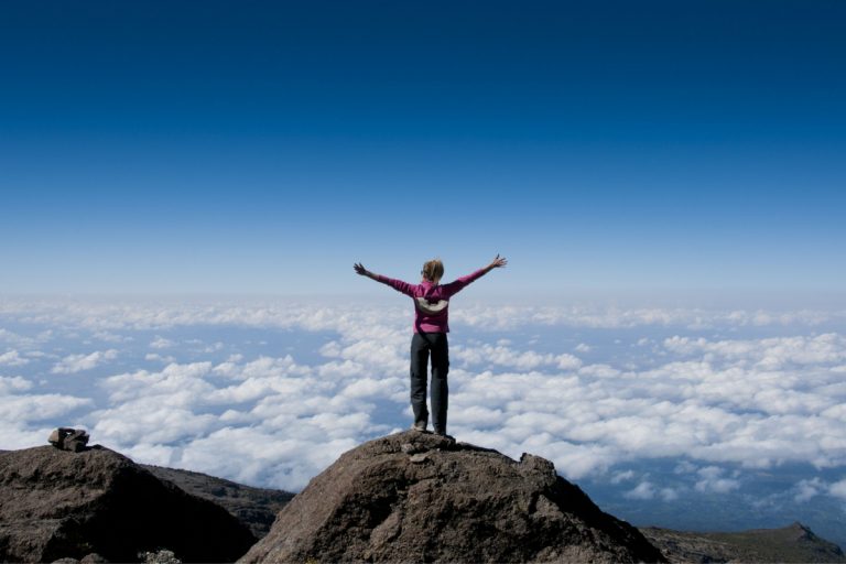
[[170, 480], [188, 494], [223, 506], [250, 528], [257, 539], [270, 532], [276, 513], [294, 497], [289, 491], [253, 488], [206, 474], [142, 465], [154, 476]]

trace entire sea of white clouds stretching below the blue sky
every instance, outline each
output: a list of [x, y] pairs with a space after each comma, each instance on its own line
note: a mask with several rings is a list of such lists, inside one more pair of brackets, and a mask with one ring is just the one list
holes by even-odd
[[[138, 462], [299, 490], [410, 425], [412, 316], [400, 299], [0, 299], [0, 448], [82, 426]], [[460, 441], [544, 456], [619, 507], [748, 501], [781, 469], [757, 502], [846, 503], [846, 312], [456, 300], [451, 325]]]

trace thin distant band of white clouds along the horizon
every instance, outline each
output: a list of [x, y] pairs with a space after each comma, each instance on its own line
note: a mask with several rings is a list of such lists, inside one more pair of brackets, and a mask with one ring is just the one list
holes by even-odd
[[[306, 330], [340, 327], [366, 328], [370, 321], [401, 322], [410, 327], [410, 307], [398, 301], [326, 305], [325, 303], [239, 300], [193, 302], [187, 300], [83, 301], [15, 299], [0, 301], [0, 317], [47, 326], [78, 326], [111, 334], [120, 329], [164, 329], [192, 325], [288, 327]], [[388, 304], [388, 305], [386, 305]], [[456, 325], [479, 329], [511, 330], [525, 326], [578, 328], [685, 327], [817, 327], [843, 323], [846, 311], [705, 310], [684, 307], [618, 307], [585, 305], [503, 305], [462, 303], [451, 313]], [[0, 339], [15, 334], [3, 329]], [[106, 332], [106, 333], [104, 333]], [[123, 336], [126, 338], [126, 335]], [[587, 344], [589, 346], [589, 344]]]

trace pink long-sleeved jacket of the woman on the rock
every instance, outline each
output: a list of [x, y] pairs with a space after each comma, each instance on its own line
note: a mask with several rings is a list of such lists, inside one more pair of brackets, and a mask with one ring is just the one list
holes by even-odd
[[381, 274], [377, 274], [376, 280], [414, 300], [414, 333], [449, 333], [449, 299], [482, 274], [485, 269], [443, 285], [425, 280], [409, 284]]

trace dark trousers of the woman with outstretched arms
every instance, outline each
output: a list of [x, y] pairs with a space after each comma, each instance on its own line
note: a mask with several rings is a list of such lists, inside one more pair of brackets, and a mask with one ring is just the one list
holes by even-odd
[[432, 355], [432, 426], [435, 433], [446, 434], [446, 408], [449, 388], [446, 373], [449, 371], [449, 343], [446, 333], [415, 333], [411, 339], [411, 408], [414, 423], [425, 425], [429, 421], [426, 408], [426, 365]]

